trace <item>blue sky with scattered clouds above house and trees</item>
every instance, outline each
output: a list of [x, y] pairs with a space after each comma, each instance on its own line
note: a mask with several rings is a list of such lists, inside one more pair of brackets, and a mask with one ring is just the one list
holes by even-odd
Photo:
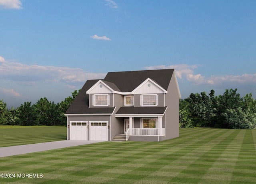
[[255, 0], [0, 0], [0, 99], [64, 100], [110, 71], [174, 68], [182, 99], [256, 98]]

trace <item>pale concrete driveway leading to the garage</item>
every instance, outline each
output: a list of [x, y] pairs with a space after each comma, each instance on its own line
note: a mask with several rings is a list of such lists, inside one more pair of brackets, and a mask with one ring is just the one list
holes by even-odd
[[54, 142], [42, 142], [36, 144], [25, 144], [19, 146], [8, 146], [0, 148], [0, 157], [12, 156], [17, 154], [32, 153], [38, 151], [53, 150], [58, 148], [66, 148], [71, 146], [79, 146], [84, 144], [92, 144], [103, 142], [101, 140], [60, 140]]

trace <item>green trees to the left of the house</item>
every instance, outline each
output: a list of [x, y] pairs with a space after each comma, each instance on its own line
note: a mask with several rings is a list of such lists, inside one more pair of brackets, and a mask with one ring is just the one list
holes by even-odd
[[72, 92], [72, 97], [65, 98], [60, 103], [41, 98], [35, 104], [24, 102], [16, 109], [7, 108], [0, 100], [0, 125], [66, 125], [65, 113], [80, 90]]

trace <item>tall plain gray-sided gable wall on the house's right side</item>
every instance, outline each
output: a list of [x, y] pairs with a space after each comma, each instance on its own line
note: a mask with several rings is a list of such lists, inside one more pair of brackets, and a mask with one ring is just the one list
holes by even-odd
[[[173, 73], [174, 75], [174, 73]], [[180, 136], [179, 133], [179, 93], [175, 81], [175, 77], [172, 76], [172, 79], [170, 81], [169, 87], [168, 87], [168, 93], [166, 93], [165, 105], [168, 107], [166, 109], [166, 115], [165, 115], [165, 137], [162, 137], [162, 140], [170, 139], [170, 138], [176, 138]], [[164, 117], [163, 117], [164, 119]]]

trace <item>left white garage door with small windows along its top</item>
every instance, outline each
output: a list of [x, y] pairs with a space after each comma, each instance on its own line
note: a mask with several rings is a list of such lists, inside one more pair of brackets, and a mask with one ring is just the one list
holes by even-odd
[[87, 122], [70, 122], [71, 140], [87, 140]]

